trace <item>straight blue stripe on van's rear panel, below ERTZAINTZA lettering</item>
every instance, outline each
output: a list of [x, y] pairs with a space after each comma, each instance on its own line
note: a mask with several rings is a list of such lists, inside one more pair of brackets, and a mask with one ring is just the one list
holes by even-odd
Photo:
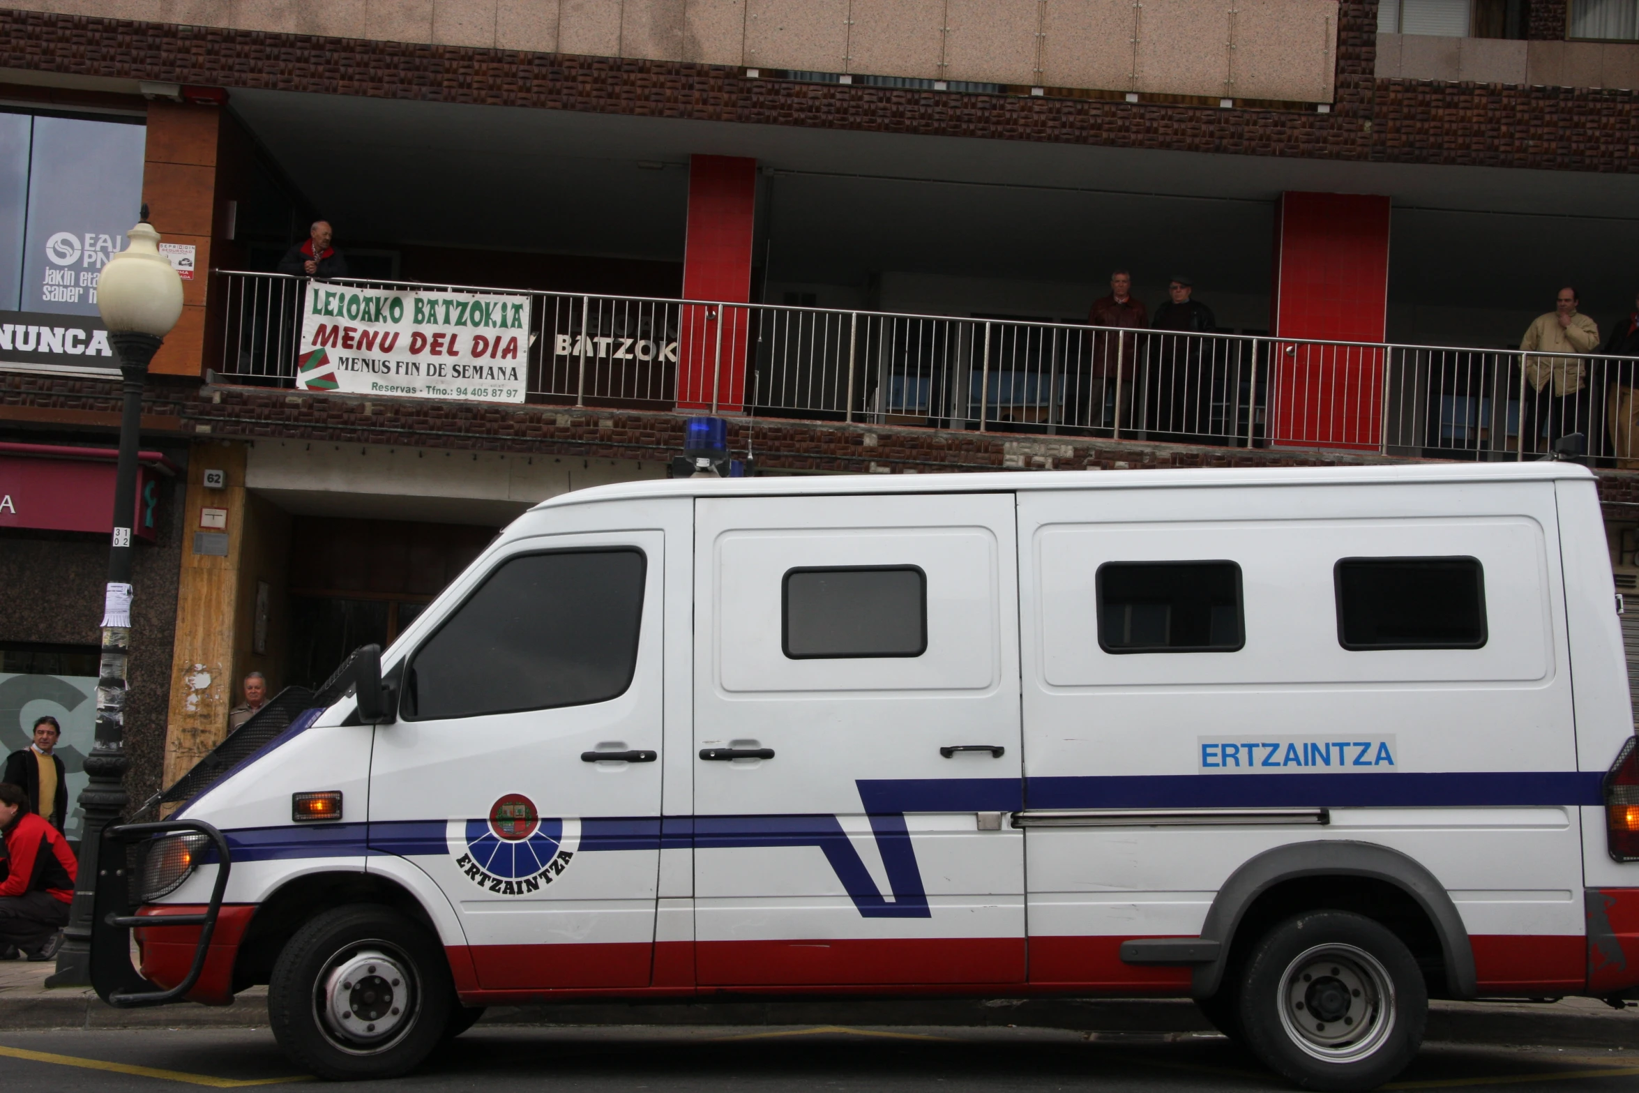
[[1603, 805], [1598, 770], [1157, 773], [1029, 778], [1029, 808], [1496, 808]]

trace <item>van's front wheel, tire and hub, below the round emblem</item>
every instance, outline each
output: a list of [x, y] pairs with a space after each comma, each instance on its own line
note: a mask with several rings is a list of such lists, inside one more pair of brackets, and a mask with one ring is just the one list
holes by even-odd
[[369, 903], [298, 929], [267, 983], [274, 1039], [295, 1065], [333, 1080], [408, 1073], [438, 1047], [454, 1000], [438, 939]]

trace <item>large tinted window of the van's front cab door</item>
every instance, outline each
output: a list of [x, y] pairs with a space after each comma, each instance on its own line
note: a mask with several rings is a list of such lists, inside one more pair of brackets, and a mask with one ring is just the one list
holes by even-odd
[[641, 551], [552, 551], [503, 562], [413, 654], [413, 721], [608, 701], [638, 667]]

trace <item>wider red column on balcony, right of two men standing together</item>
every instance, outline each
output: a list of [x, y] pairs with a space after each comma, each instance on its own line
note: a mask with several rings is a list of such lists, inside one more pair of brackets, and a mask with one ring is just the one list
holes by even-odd
[[[1380, 342], [1388, 318], [1388, 198], [1283, 193], [1275, 208], [1277, 339]], [[1375, 449], [1383, 423], [1383, 352], [1275, 341], [1269, 439]]]

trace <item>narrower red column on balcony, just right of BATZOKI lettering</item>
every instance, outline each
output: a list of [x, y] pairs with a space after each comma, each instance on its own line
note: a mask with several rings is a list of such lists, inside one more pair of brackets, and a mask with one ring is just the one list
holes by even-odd
[[[688, 239], [683, 298], [751, 300], [751, 228], [757, 161], [693, 156], [688, 161]], [[677, 331], [677, 408], [736, 413], [746, 398], [751, 310], [685, 305]]]

